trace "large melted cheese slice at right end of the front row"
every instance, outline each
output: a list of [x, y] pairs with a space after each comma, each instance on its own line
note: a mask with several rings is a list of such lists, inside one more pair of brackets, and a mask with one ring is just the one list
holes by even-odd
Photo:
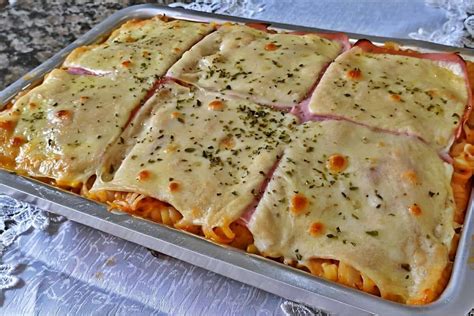
[[452, 167], [415, 137], [346, 121], [298, 127], [248, 227], [265, 255], [339, 260], [382, 297], [434, 289], [453, 230]]

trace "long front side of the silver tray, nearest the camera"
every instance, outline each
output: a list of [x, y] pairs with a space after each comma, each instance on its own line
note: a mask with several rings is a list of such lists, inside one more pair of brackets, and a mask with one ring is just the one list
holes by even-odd
[[[460, 282], [466, 284], [461, 286], [458, 282], [450, 284], [454, 286], [451, 286], [452, 289], [446, 290], [451, 292], [448, 297], [426, 306], [406, 306], [316, 278], [259, 256], [214, 244], [164, 225], [113, 214], [107, 211], [104, 205], [9, 171], [0, 170], [0, 192], [63, 215], [75, 222], [160, 251], [287, 299], [325, 309], [330, 313], [342, 315], [399, 315], [400, 313], [462, 315], [462, 313], [466, 314], [470, 308], [462, 302], [470, 302], [469, 295], [474, 293], [472, 292], [474, 271], [463, 269], [465, 273], [463, 273]], [[469, 234], [464, 234], [460, 246], [463, 246], [463, 242], [465, 243], [466, 236], [471, 236], [472, 233], [471, 231]], [[458, 257], [459, 255], [467, 260], [466, 248], [460, 249]], [[464, 264], [466, 267], [465, 262], [457, 260], [456, 263]], [[464, 293], [460, 293], [463, 289]]]

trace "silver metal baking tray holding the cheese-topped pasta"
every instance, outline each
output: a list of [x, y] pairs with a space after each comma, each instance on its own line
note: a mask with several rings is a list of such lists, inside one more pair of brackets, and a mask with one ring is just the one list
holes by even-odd
[[[71, 45], [0, 92], [0, 108], [4, 107], [20, 91], [40, 82], [46, 73], [60, 66], [74, 48], [97, 42], [129, 19], [149, 18], [157, 14], [194, 21], [261, 22], [269, 24], [272, 28], [283, 30], [331, 32], [330, 30], [249, 20], [151, 4], [132, 6], [113, 14]], [[415, 40], [346, 34], [353, 41], [361, 38], [369, 39], [375, 43], [395, 41], [404, 47], [414, 47], [426, 51], [457, 51], [467, 59], [474, 59], [474, 52], [468, 49]], [[102, 204], [33, 179], [18, 176], [9, 171], [0, 170], [0, 192], [226, 277], [296, 302], [323, 309], [329, 314], [467, 315], [474, 306], [474, 214], [472, 196], [448, 286], [435, 302], [424, 306], [408, 306], [314, 277], [309, 273], [260, 256], [217, 245], [180, 230], [128, 215], [109, 212]]]

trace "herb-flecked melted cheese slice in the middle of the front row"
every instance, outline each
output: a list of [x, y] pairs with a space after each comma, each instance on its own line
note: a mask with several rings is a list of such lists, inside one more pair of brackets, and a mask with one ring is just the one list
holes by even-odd
[[181, 225], [205, 229], [228, 227], [244, 213], [297, 123], [288, 113], [173, 82], [140, 112], [130, 125], [135, 135], [124, 133], [125, 159], [112, 150], [91, 191], [145, 194], [175, 207]]

